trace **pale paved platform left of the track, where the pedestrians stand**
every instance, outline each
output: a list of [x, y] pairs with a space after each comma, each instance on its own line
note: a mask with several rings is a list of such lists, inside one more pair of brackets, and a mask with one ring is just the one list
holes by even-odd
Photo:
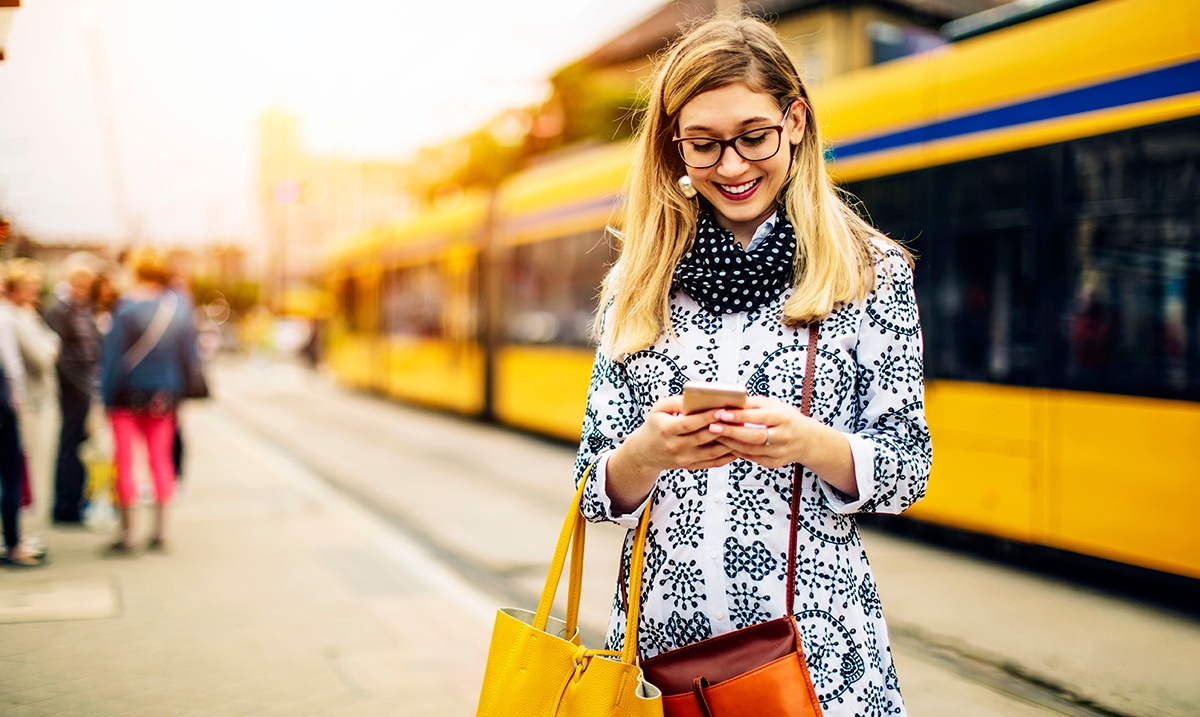
[[187, 428], [169, 554], [52, 530], [0, 572], [0, 715], [474, 712], [493, 599], [211, 408]]

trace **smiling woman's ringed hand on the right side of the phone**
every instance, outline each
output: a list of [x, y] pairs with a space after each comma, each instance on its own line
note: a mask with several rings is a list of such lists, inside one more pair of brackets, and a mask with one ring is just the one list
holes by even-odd
[[850, 441], [796, 406], [764, 396], [746, 397], [744, 409], [720, 409], [708, 430], [732, 456], [764, 468], [799, 463], [851, 498], [858, 496]]

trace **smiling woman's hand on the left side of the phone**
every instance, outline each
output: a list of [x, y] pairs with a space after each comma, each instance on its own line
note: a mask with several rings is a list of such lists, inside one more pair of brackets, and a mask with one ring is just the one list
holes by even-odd
[[646, 421], [608, 457], [606, 483], [613, 512], [629, 513], [641, 505], [665, 470], [702, 470], [736, 460], [708, 429], [720, 410], [684, 414], [682, 396], [667, 396], [650, 406]]

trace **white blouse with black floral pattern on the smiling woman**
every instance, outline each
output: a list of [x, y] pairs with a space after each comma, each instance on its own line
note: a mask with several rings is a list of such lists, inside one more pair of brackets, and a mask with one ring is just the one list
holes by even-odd
[[[796, 619], [828, 717], [905, 715], [887, 625], [858, 512], [899, 513], [925, 493], [931, 462], [924, 415], [922, 337], [912, 271], [880, 242], [875, 290], [821, 323], [812, 416], [846, 434], [858, 498], [811, 471], [800, 484]], [[660, 398], [684, 381], [737, 382], [751, 394], [796, 406], [808, 329], [780, 321], [790, 291], [749, 313], [714, 315], [685, 293], [671, 296], [678, 338], [612, 362], [596, 354], [576, 481], [596, 457], [584, 490], [589, 520], [634, 528], [646, 504], [616, 516], [605, 492], [607, 457]], [[652, 493], [641, 655], [652, 657], [704, 638], [778, 617], [785, 576], [792, 469], [736, 460], [708, 470], [668, 470]], [[625, 541], [628, 573], [632, 531]], [[620, 649], [624, 608], [618, 585], [608, 649]]]

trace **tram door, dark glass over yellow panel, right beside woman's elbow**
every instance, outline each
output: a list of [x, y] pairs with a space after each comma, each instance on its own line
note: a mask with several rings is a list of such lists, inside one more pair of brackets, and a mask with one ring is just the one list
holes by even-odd
[[[1019, 541], [1045, 525], [1045, 392], [1030, 167], [1020, 155], [935, 173], [924, 297], [934, 474], [914, 517]], [[944, 476], [944, 480], [940, 480]]]

